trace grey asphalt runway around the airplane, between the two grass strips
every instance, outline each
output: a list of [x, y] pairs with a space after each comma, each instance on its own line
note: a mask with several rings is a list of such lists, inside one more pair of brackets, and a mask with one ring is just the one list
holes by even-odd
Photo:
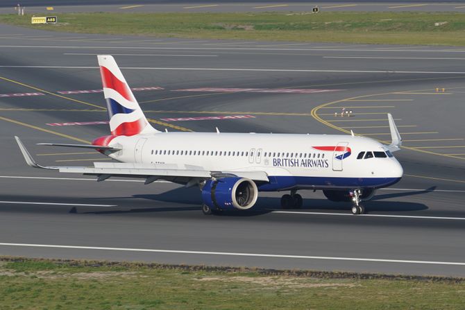
[[[465, 49], [154, 39], [0, 29], [0, 255], [465, 277]], [[366, 216], [302, 191], [282, 210], [203, 216], [198, 189], [96, 183], [31, 169], [88, 165], [108, 121], [96, 54], [115, 55], [153, 126], [170, 131], [350, 132], [389, 140], [394, 115], [405, 176]], [[341, 117], [351, 110], [352, 116]], [[241, 116], [250, 117], [241, 117]], [[284, 212], [285, 211], [285, 212]]]

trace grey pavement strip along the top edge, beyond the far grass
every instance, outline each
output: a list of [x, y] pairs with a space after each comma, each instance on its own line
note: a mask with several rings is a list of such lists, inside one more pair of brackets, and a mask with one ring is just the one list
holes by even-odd
[[[29, 13], [53, 12], [312, 12], [318, 7], [320, 12], [334, 11], [391, 11], [391, 12], [465, 12], [465, 4], [461, 1], [167, 1], [167, 0], [23, 0], [20, 4]], [[3, 0], [0, 3], [1, 13], [14, 13], [17, 1]], [[47, 8], [53, 8], [53, 11]]]

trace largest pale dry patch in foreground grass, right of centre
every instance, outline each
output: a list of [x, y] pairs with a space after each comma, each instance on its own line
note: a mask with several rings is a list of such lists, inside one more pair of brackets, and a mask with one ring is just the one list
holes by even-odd
[[355, 287], [355, 283], [309, 283], [308, 279], [295, 277], [203, 277], [198, 281], [221, 281], [242, 282], [248, 284], [259, 284], [262, 286], [287, 286], [293, 289], [315, 288], [315, 287]]

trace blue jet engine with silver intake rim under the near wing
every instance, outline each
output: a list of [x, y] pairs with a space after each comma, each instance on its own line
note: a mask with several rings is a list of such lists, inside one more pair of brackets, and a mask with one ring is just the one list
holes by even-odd
[[203, 203], [214, 210], [250, 209], [257, 198], [257, 185], [246, 178], [208, 180], [202, 189]]

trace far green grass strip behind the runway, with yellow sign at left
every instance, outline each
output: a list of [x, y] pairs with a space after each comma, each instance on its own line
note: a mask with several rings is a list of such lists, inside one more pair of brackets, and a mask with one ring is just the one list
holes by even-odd
[[[208, 39], [465, 45], [459, 12], [75, 13], [56, 25], [31, 25], [31, 15], [0, 23], [75, 33]], [[444, 22], [434, 26], [436, 22]]]

